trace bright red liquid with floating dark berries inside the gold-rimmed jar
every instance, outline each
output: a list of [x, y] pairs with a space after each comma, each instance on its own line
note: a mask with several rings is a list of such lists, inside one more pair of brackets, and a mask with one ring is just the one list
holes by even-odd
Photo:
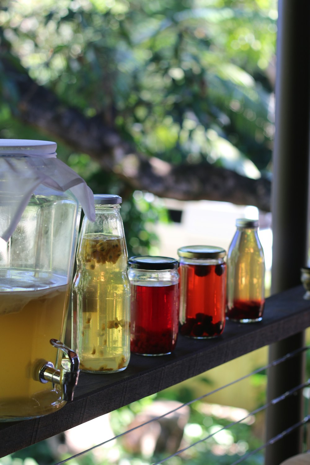
[[187, 265], [179, 268], [185, 315], [180, 332], [194, 338], [218, 336], [225, 325], [226, 265]]

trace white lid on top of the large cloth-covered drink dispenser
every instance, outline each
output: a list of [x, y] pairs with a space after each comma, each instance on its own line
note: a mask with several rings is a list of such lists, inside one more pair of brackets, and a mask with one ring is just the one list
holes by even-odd
[[56, 157], [56, 142], [50, 140], [0, 139], [0, 156]]

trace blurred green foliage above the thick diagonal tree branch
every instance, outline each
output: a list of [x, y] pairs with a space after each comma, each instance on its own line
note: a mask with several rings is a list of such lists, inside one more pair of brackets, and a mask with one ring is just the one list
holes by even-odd
[[64, 104], [173, 163], [268, 169], [275, 0], [2, 3], [12, 53]]

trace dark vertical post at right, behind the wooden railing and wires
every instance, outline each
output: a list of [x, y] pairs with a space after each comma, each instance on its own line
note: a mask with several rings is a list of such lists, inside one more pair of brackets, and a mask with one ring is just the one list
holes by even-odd
[[[276, 134], [272, 186], [272, 293], [300, 284], [308, 257], [310, 127], [310, 1], [279, 0]], [[299, 333], [270, 346], [270, 362], [303, 345]], [[303, 356], [268, 372], [270, 401], [303, 381]], [[266, 439], [302, 418], [302, 392], [267, 410]], [[301, 429], [266, 448], [265, 465], [278, 465], [301, 451]]]

